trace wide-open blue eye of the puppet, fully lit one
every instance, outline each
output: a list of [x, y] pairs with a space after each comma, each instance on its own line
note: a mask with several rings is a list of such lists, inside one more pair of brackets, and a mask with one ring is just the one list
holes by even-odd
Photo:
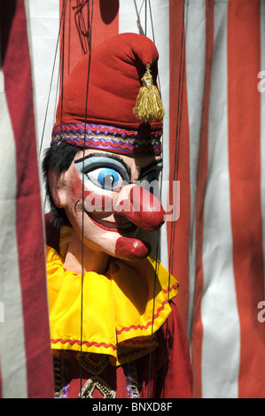
[[106, 190], [119, 190], [123, 184], [121, 174], [110, 167], [101, 167], [86, 173], [86, 177], [95, 185]]

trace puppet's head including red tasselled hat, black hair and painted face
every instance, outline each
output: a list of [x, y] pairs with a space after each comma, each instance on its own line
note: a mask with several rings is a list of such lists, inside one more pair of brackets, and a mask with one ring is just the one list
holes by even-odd
[[150, 184], [161, 170], [163, 107], [158, 51], [143, 35], [122, 34], [84, 56], [58, 101], [43, 166], [54, 212], [96, 252], [145, 258], [137, 228], [156, 231], [164, 211]]

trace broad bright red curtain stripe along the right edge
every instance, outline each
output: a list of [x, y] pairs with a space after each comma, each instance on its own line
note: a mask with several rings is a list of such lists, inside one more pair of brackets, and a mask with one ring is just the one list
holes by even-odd
[[260, 1], [230, 1], [228, 14], [229, 164], [234, 275], [240, 320], [239, 397], [264, 397], [261, 221]]

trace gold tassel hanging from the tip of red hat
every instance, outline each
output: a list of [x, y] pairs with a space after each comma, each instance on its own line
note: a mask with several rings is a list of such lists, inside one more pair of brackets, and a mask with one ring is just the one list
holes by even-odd
[[146, 72], [142, 78], [143, 87], [140, 88], [136, 98], [133, 112], [137, 119], [147, 123], [148, 121], [161, 121], [165, 111], [160, 97], [160, 92], [152, 83], [150, 65], [146, 65]]

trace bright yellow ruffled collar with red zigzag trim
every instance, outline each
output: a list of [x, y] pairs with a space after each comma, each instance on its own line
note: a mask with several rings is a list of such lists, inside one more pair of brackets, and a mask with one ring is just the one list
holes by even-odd
[[157, 346], [178, 282], [154, 256], [133, 263], [113, 258], [107, 272], [67, 271], [47, 246], [51, 348], [108, 354], [113, 366]]

